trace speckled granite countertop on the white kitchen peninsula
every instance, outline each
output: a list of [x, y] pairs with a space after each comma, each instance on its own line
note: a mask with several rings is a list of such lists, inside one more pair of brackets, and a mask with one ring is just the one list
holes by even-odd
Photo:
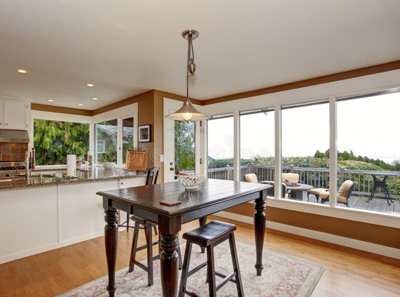
[[76, 178], [66, 177], [66, 168], [38, 169], [31, 171], [30, 178], [25, 176], [0, 177], [0, 190], [43, 187], [57, 184], [87, 183], [94, 181], [114, 180], [120, 178], [145, 177], [143, 171], [124, 172], [123, 169], [104, 169], [102, 167], [76, 168]]

